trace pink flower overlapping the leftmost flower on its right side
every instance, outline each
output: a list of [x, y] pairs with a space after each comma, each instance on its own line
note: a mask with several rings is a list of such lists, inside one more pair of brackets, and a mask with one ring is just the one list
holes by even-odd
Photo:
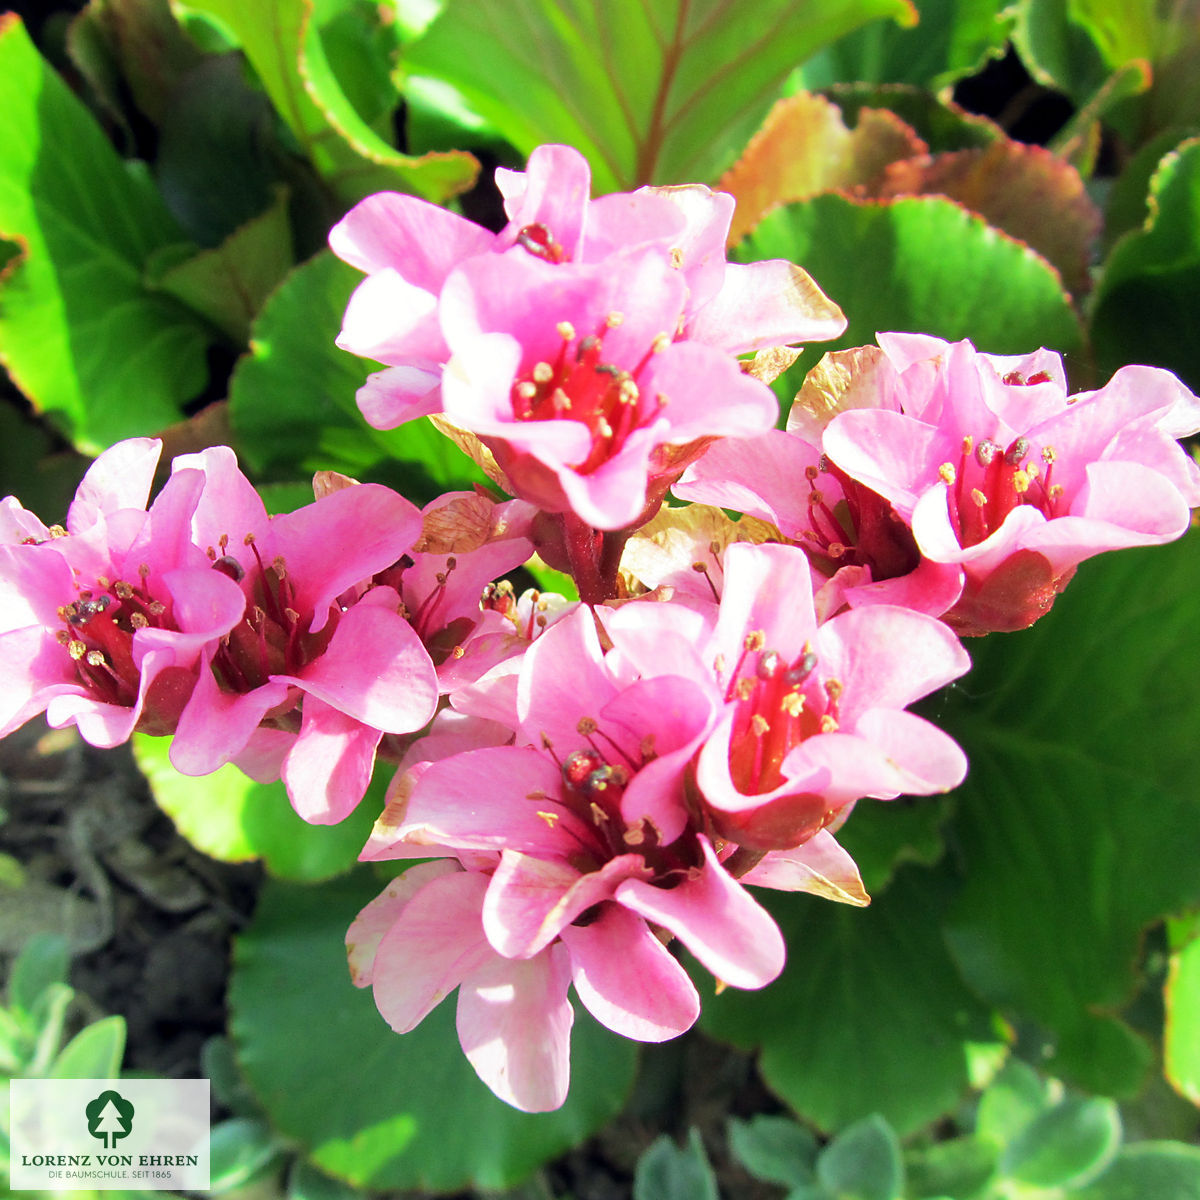
[[[203, 492], [191, 540], [245, 614], [203, 652], [170, 760], [187, 775], [235, 761], [257, 779], [282, 773], [308, 821], [340, 821], [362, 798], [384, 733], [433, 715], [433, 664], [392, 588], [365, 581], [421, 532], [395, 492], [364, 484], [269, 517], [226, 446], [176, 458]], [[173, 476], [174, 478], [174, 476]]]

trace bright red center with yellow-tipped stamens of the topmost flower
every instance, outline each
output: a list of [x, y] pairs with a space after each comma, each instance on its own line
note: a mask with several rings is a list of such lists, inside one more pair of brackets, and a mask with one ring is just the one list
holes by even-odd
[[654, 338], [649, 352], [626, 371], [604, 359], [604, 340], [624, 318], [611, 312], [595, 334], [576, 338], [570, 322], [558, 324], [563, 342], [553, 361], [536, 362], [512, 384], [512, 414], [518, 421], [572, 420], [586, 425], [592, 448], [574, 467], [581, 474], [595, 470], [624, 445], [630, 432], [654, 416], [667, 398], [646, 401], [637, 378], [652, 354], [664, 349], [665, 334]]

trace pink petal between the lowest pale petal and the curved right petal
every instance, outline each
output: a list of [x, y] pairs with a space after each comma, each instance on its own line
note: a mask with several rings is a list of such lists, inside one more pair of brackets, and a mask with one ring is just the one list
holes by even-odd
[[695, 1024], [700, 996], [688, 972], [641, 917], [606, 904], [590, 924], [568, 925], [559, 936], [580, 1000], [614, 1033], [666, 1042]]

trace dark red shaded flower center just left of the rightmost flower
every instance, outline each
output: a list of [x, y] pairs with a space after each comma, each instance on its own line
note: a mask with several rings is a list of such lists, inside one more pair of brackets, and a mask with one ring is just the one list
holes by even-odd
[[[822, 476], [833, 484], [822, 486]], [[808, 528], [799, 534], [809, 558], [827, 575], [841, 566], [866, 566], [871, 580], [894, 580], [917, 569], [920, 552], [912, 530], [877, 492], [851, 479], [824, 455], [808, 467]], [[841, 499], [834, 499], [834, 492]], [[830, 500], [833, 503], [830, 503]]]

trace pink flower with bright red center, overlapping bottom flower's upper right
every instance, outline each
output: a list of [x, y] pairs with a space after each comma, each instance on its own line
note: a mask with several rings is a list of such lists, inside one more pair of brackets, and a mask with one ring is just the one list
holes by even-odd
[[666, 659], [707, 680], [719, 714], [695, 781], [722, 839], [752, 851], [802, 846], [860, 797], [929, 794], [966, 758], [904, 709], [970, 666], [942, 622], [869, 605], [817, 624], [805, 556], [746, 542], [724, 554], [714, 628], [679, 628], [676, 605], [635, 602], [605, 619], [631, 670]]

